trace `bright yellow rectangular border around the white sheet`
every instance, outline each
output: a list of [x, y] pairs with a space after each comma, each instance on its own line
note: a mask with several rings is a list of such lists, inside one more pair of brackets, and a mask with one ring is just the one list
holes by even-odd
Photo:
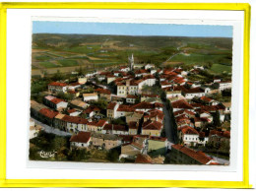
[[[244, 11], [243, 180], [6, 179], [6, 10], [7, 9], [158, 9]], [[0, 187], [205, 187], [251, 188], [249, 184], [249, 35], [247, 3], [0, 3]]]

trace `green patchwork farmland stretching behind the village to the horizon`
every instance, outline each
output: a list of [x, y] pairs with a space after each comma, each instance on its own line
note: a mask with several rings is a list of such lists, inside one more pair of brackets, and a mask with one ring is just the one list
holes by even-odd
[[32, 35], [32, 75], [124, 65], [132, 53], [137, 63], [199, 64], [219, 74], [231, 71], [232, 39], [37, 33]]

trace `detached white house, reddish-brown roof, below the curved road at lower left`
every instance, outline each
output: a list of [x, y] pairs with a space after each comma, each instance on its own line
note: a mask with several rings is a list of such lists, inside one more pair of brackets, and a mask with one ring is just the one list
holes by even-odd
[[70, 148], [88, 148], [91, 142], [91, 132], [79, 132], [77, 135], [73, 135], [70, 140]]

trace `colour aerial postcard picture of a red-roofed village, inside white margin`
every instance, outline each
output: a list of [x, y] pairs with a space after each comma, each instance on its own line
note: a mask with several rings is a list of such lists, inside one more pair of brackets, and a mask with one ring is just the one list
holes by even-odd
[[29, 159], [229, 165], [232, 27], [32, 22]]

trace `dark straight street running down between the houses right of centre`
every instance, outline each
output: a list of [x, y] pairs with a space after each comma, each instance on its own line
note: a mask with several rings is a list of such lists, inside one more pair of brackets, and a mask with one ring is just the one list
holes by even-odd
[[169, 115], [169, 111], [166, 107], [166, 102], [163, 102], [163, 114], [164, 114], [164, 129], [165, 129], [165, 134], [166, 134], [166, 138], [167, 140], [174, 144], [174, 138], [173, 138], [173, 127], [171, 125], [171, 119], [170, 119], [170, 115]]

